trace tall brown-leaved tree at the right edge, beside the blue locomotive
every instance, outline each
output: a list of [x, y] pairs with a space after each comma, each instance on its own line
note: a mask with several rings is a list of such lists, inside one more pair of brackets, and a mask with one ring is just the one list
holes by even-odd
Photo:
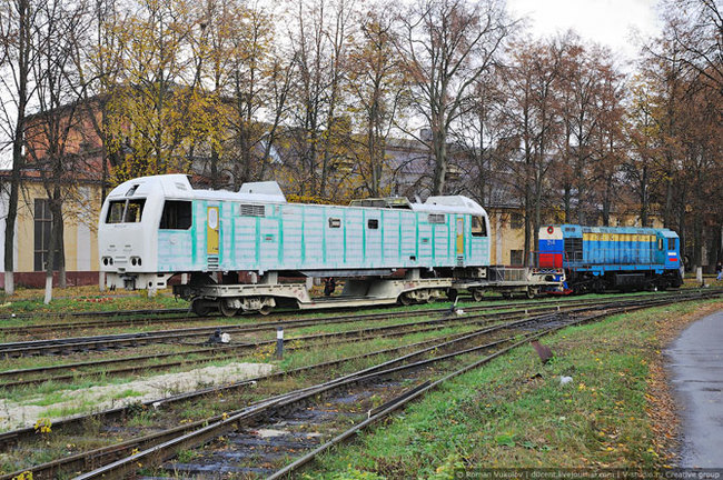
[[[721, 169], [721, 22], [717, 7], [686, 2], [667, 11], [661, 38], [645, 50], [642, 78], [647, 88], [650, 150], [654, 159], [651, 198], [665, 226], [677, 230], [693, 266], [705, 266], [704, 251], [720, 258], [723, 219], [711, 189]], [[711, 143], [711, 139], [713, 143]]]

